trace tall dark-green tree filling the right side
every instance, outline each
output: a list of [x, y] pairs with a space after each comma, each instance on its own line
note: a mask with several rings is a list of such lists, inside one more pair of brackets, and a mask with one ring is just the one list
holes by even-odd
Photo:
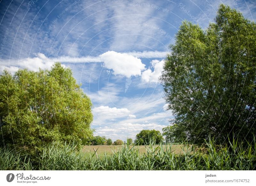
[[175, 130], [190, 142], [220, 142], [256, 131], [256, 25], [223, 4], [206, 30], [184, 21], [160, 81]]

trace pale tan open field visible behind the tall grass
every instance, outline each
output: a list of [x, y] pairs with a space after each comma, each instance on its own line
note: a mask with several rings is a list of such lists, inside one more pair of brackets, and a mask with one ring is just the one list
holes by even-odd
[[[120, 149], [122, 149], [124, 145], [85, 145], [82, 149], [83, 152], [85, 153], [94, 153], [94, 150], [97, 150], [97, 154], [98, 155], [104, 155], [104, 153], [106, 153], [107, 155], [113, 155], [113, 152], [115, 151], [119, 151]], [[164, 146], [164, 151], [166, 151], [166, 145]], [[174, 154], [180, 154], [183, 153], [182, 151], [182, 146], [183, 145], [172, 145], [171, 146], [171, 151]], [[132, 146], [131, 146], [132, 147]], [[156, 145], [156, 147], [158, 147], [158, 145]], [[138, 146], [134, 146], [134, 149], [138, 149], [140, 154], [146, 153], [147, 152], [147, 148], [145, 145], [138, 145]]]

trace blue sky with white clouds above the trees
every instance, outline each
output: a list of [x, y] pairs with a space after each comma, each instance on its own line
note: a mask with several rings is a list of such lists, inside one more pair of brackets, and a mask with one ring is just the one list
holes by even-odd
[[0, 71], [61, 62], [92, 100], [94, 136], [135, 139], [169, 125], [158, 78], [183, 20], [206, 29], [218, 6], [256, 19], [255, 0], [0, 0]]

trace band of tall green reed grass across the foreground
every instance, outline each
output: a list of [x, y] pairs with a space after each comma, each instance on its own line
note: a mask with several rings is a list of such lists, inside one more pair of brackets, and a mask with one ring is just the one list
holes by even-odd
[[205, 142], [206, 147], [185, 144], [180, 154], [173, 153], [172, 144], [156, 145], [154, 141], [141, 154], [136, 146], [124, 145], [99, 158], [95, 153], [76, 151], [74, 144], [52, 145], [30, 160], [10, 149], [0, 149], [1, 170], [254, 170], [256, 143], [233, 140], [225, 146]]

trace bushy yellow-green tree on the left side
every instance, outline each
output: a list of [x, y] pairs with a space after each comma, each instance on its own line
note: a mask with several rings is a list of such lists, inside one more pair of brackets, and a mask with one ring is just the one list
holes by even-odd
[[88, 144], [92, 103], [72, 71], [55, 63], [51, 70], [18, 70], [0, 76], [0, 143], [28, 153], [52, 142]]

